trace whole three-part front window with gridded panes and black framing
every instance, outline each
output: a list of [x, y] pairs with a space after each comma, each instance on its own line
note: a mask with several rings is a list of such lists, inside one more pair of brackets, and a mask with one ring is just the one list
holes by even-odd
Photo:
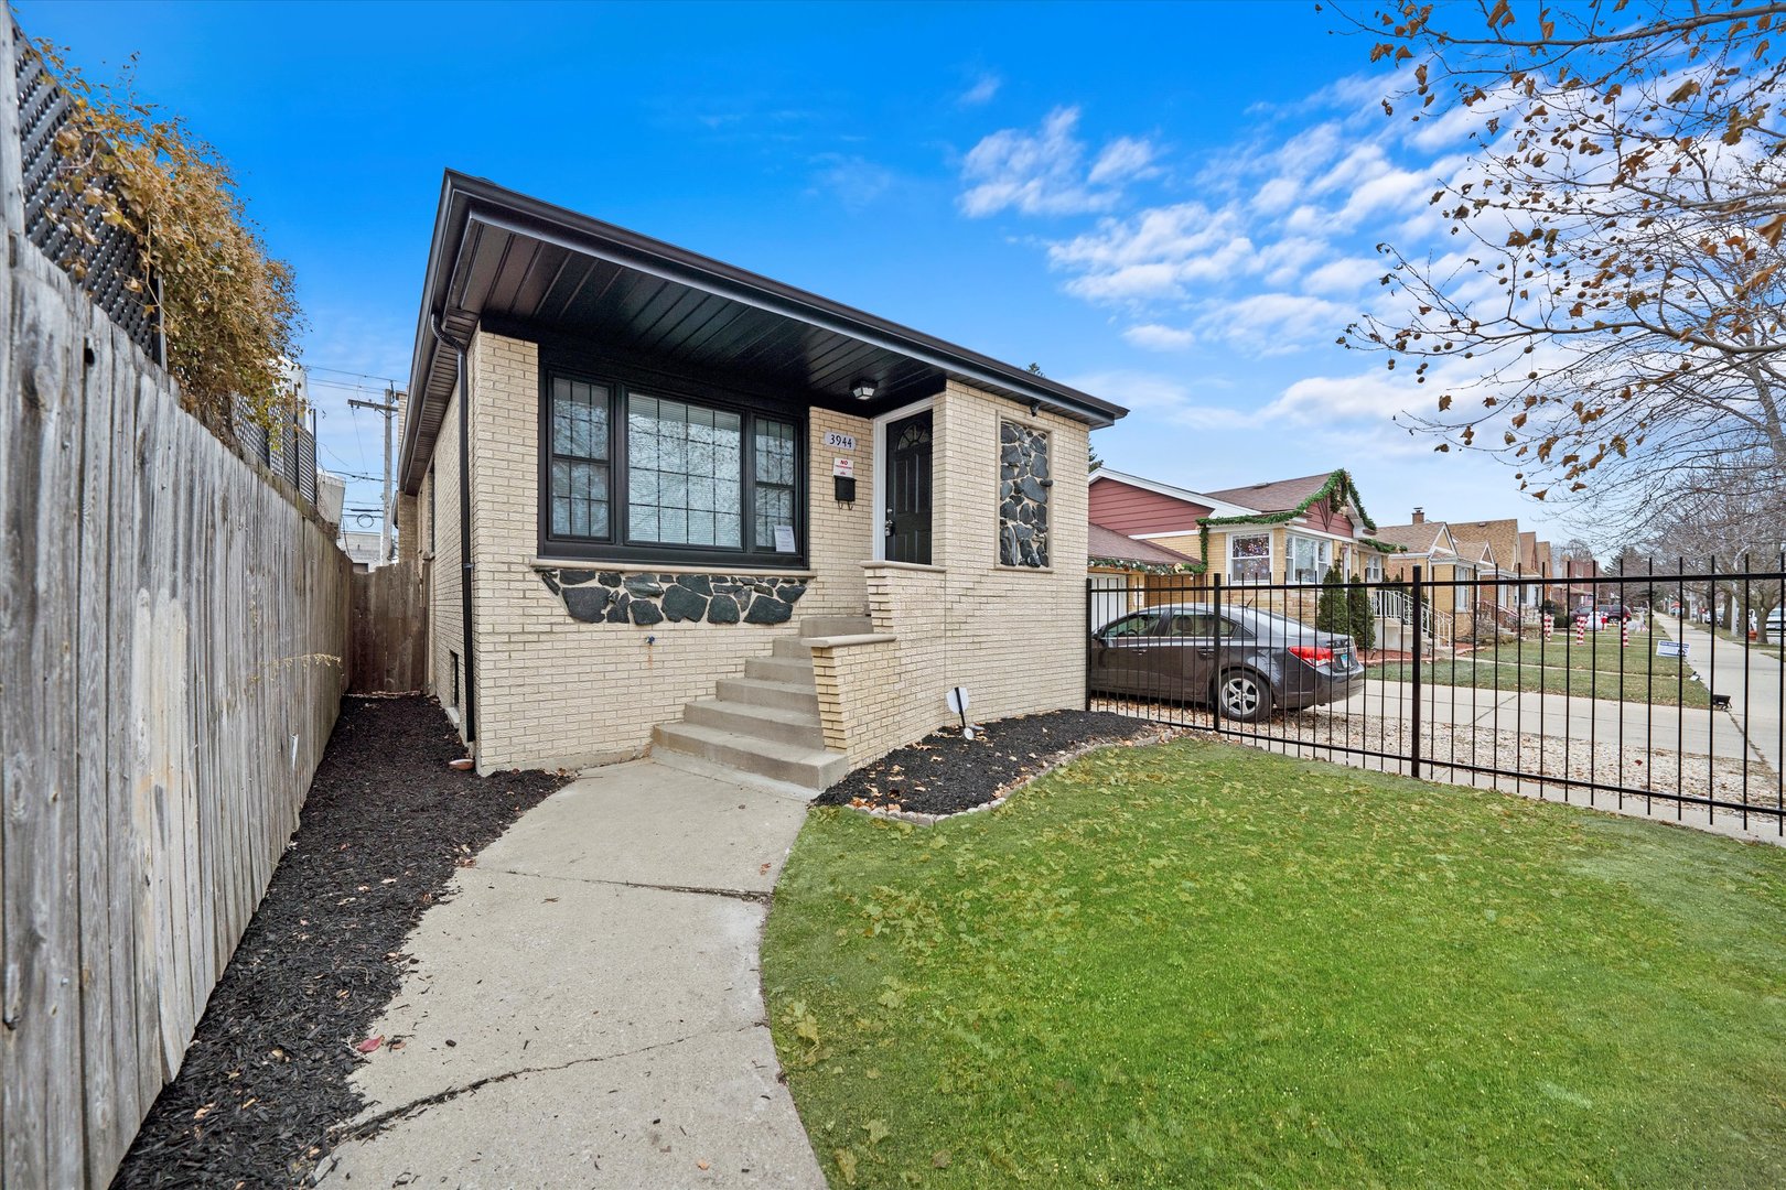
[[541, 555], [730, 569], [804, 562], [800, 419], [725, 393], [568, 369], [547, 369], [543, 389]]

